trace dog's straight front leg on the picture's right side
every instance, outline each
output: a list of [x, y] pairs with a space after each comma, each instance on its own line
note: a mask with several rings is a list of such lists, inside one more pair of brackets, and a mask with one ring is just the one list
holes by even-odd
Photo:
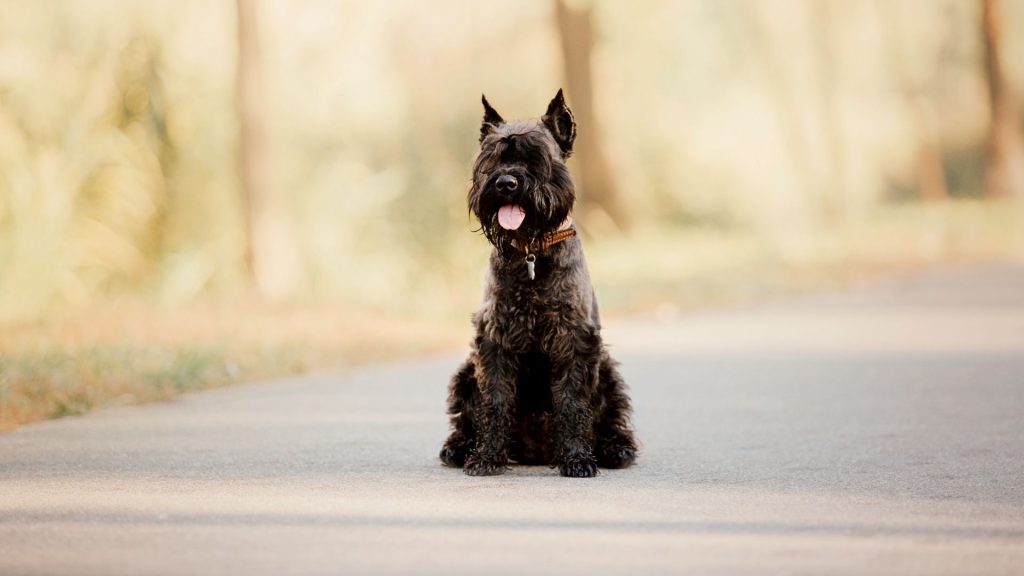
[[597, 359], [585, 355], [561, 365], [556, 364], [552, 373], [551, 400], [558, 434], [558, 471], [565, 477], [597, 476], [591, 409], [597, 369]]

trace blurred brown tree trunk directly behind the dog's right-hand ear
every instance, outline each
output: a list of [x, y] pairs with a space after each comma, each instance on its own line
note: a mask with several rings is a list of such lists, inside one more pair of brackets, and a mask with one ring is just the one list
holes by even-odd
[[558, 36], [569, 106], [580, 126], [575, 156], [579, 159], [580, 199], [585, 211], [603, 211], [620, 229], [629, 224], [618, 188], [601, 141], [600, 125], [594, 114], [594, 89], [591, 74], [593, 30], [590, 6], [569, 7], [565, 0], [555, 0]]

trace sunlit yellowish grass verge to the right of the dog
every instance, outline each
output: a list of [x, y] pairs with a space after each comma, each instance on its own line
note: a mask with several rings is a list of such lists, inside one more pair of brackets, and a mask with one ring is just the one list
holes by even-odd
[[784, 234], [651, 227], [629, 239], [593, 239], [588, 257], [605, 311], [743, 302], [922, 266], [1020, 260], [1024, 206], [910, 203]]

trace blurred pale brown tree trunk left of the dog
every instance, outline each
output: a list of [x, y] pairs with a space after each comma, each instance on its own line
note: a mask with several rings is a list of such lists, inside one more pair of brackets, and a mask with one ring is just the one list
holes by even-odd
[[255, 0], [237, 0], [239, 176], [246, 220], [246, 261], [261, 296], [280, 300], [299, 281], [287, 203], [273, 186], [267, 154], [263, 71]]

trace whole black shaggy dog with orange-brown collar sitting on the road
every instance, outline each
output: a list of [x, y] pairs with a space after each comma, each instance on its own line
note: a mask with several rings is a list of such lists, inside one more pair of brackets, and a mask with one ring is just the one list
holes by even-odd
[[486, 97], [483, 111], [469, 208], [494, 250], [441, 461], [470, 476], [510, 459], [578, 478], [626, 467], [637, 452], [630, 400], [572, 228], [575, 120], [561, 90], [540, 121], [505, 122]]

